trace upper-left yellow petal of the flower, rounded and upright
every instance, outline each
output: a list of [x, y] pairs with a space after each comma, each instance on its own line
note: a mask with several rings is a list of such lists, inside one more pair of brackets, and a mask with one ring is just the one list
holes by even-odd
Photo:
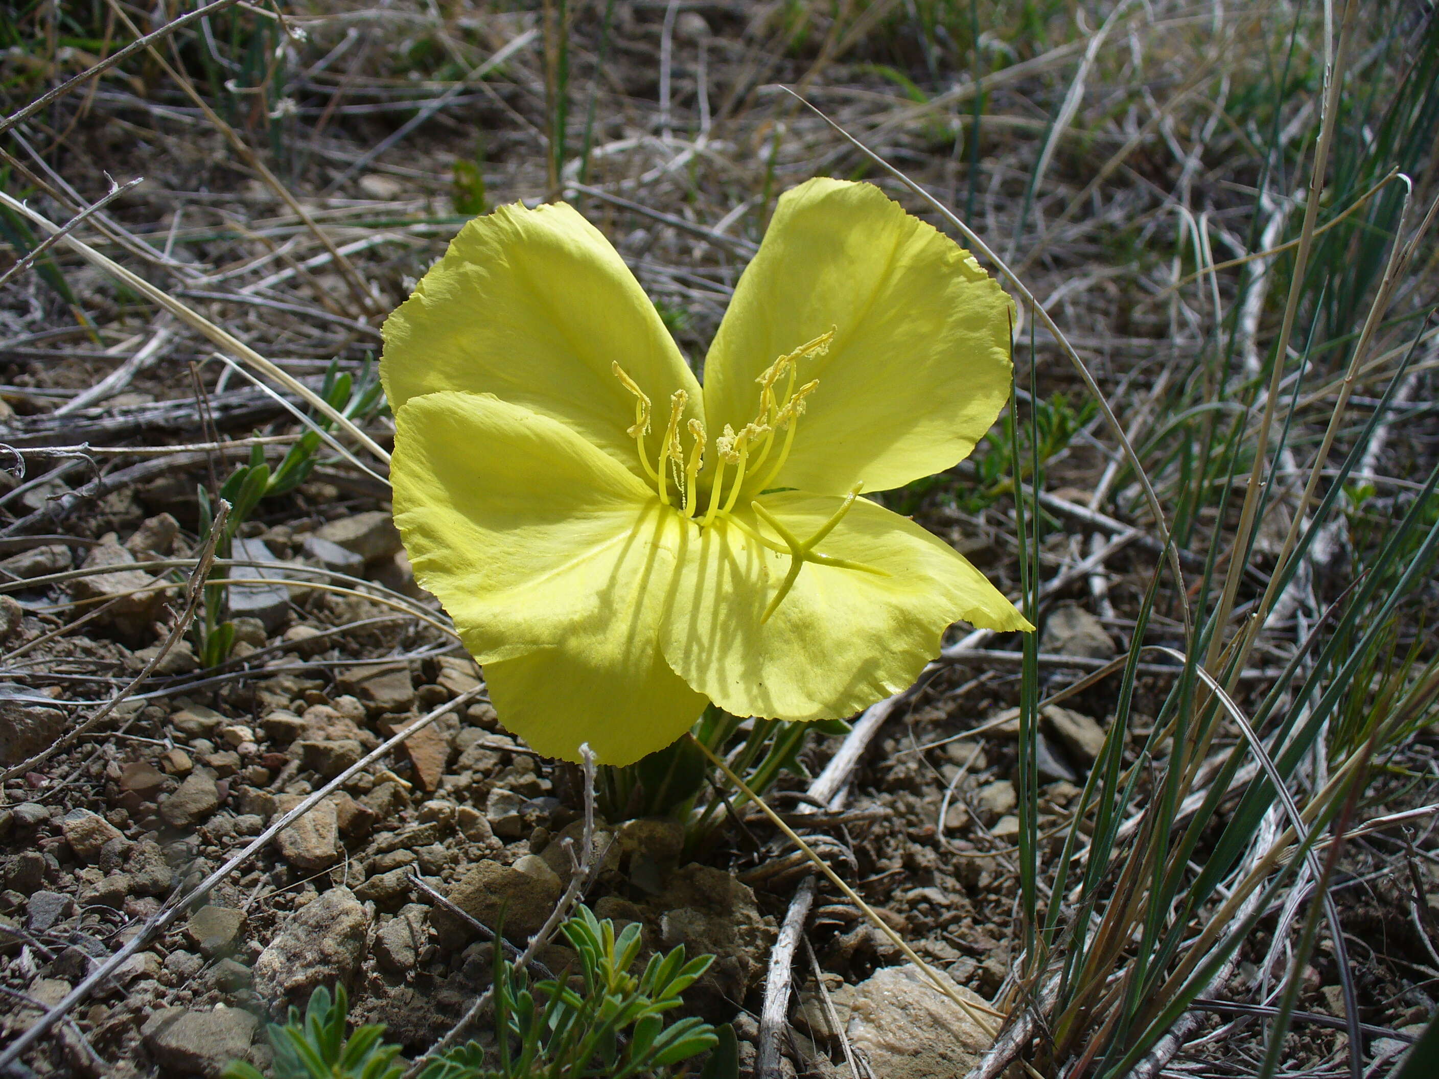
[[384, 324], [380, 377], [390, 406], [437, 390], [492, 393], [560, 420], [639, 470], [635, 397], [619, 363], [653, 401], [699, 386], [655, 305], [603, 233], [571, 206], [502, 206], [476, 217]]

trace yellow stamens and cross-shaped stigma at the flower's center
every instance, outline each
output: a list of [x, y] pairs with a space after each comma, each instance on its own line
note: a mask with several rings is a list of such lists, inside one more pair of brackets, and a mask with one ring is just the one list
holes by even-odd
[[[790, 557], [790, 570], [780, 584], [780, 590], [776, 593], [774, 598], [770, 600], [768, 607], [761, 616], [760, 622], [768, 622], [770, 616], [774, 614], [776, 607], [789, 594], [790, 588], [794, 587], [794, 580], [799, 575], [800, 567], [804, 563], [816, 563], [817, 565], [833, 565], [845, 570], [859, 570], [863, 573], [879, 574], [881, 577], [888, 577], [889, 574], [884, 570], [878, 570], [871, 565], [863, 565], [861, 563], [852, 563], [845, 558], [833, 558], [827, 554], [820, 554], [814, 547], [829, 535], [835, 525], [840, 522], [849, 508], [855, 504], [859, 496], [861, 486], [856, 483], [850, 488], [843, 505], [835, 511], [833, 516], [826, 521], [814, 535], [809, 540], [797, 540], [783, 524], [757, 501], [750, 501], [750, 508], [754, 511], [755, 516], [764, 521], [770, 528], [773, 528], [783, 542], [770, 540], [763, 535], [755, 528], [750, 527], [740, 518], [734, 516], [734, 506], [740, 499], [741, 491], [748, 483], [750, 489], [763, 495], [774, 478], [784, 468], [784, 462], [789, 460], [790, 449], [794, 445], [794, 432], [799, 429], [800, 416], [804, 414], [804, 399], [809, 397], [819, 387], [819, 380], [812, 378], [803, 386], [796, 387], [799, 375], [800, 360], [809, 357], [823, 355], [829, 351], [829, 342], [835, 338], [835, 331], [829, 329], [820, 334], [813, 341], [807, 341], [793, 352], [786, 352], [773, 364], [770, 364], [764, 373], [755, 378], [760, 384], [760, 407], [754, 416], [754, 420], [747, 423], [740, 432], [735, 432], [728, 423], [724, 426], [724, 432], [715, 437], [715, 455], [718, 456], [718, 463], [715, 465], [714, 481], [709, 483], [709, 501], [705, 505], [704, 516], [698, 521], [701, 528], [708, 528], [717, 519], [725, 519], [735, 528], [743, 531], [755, 542], [763, 547], [786, 554]], [[649, 481], [655, 485], [655, 491], [659, 495], [659, 501], [666, 506], [673, 506], [686, 518], [695, 516], [699, 511], [699, 472], [704, 468], [705, 449], [708, 446], [705, 437], [705, 426], [699, 420], [689, 420], [686, 426], [689, 436], [692, 439], [688, 459], [685, 456], [685, 447], [679, 436], [679, 424], [685, 416], [685, 406], [689, 403], [689, 394], [684, 390], [675, 390], [669, 397], [669, 423], [665, 424], [665, 436], [661, 439], [659, 452], [655, 455], [653, 463], [650, 463], [649, 449], [646, 446], [646, 436], [649, 434], [650, 426], [650, 400], [643, 390], [635, 383], [633, 378], [625, 371], [619, 363], [613, 364], [614, 377], [620, 380], [620, 384], [630, 391], [635, 397], [635, 423], [626, 432], [639, 449], [639, 460], [649, 476]], [[776, 393], [776, 387], [784, 380], [784, 390]], [[784, 437], [777, 439], [777, 433], [783, 432]], [[776, 450], [776, 446], [778, 449]], [[770, 457], [774, 456], [771, 462]], [[732, 466], [732, 475], [727, 478], [725, 472]], [[727, 483], [728, 479], [728, 483]], [[669, 486], [675, 486], [675, 501], [671, 501]]]

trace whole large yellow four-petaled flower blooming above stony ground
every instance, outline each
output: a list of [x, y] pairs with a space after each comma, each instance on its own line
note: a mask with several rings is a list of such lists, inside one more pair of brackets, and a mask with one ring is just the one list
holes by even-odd
[[695, 378], [566, 204], [466, 224], [384, 325], [394, 519], [537, 751], [627, 764], [712, 701], [832, 719], [957, 620], [1032, 629], [863, 498], [950, 468], [1009, 396], [1010, 301], [879, 188], [778, 200]]

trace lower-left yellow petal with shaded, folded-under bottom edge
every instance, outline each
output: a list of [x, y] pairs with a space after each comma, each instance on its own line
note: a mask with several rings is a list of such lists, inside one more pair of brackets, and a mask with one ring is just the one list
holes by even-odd
[[702, 696], [659, 657], [682, 525], [573, 430], [489, 394], [396, 411], [394, 519], [501, 721], [578, 760], [625, 764], [678, 738]]

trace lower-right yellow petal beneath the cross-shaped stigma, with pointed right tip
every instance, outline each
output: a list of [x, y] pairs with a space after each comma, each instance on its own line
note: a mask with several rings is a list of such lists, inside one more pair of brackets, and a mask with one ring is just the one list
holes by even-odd
[[[793, 492], [763, 502], [807, 540], [842, 499]], [[777, 538], [753, 514], [737, 516]], [[761, 623], [790, 560], [728, 521], [686, 529], [665, 659], [734, 715], [836, 719], [909, 686], [953, 622], [1032, 629], [968, 561], [873, 502], [858, 499], [817, 550], [886, 575], [807, 563]]]

